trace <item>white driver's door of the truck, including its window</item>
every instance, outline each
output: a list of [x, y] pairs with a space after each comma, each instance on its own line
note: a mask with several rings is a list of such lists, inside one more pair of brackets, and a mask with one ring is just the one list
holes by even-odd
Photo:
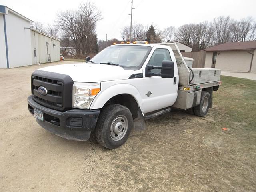
[[[172, 60], [169, 50], [157, 48], [154, 50], [147, 65], [162, 66], [162, 61], [164, 60]], [[174, 82], [174, 78], [162, 78], [160, 76], [145, 77], [145, 68], [144, 86], [142, 88], [143, 113], [146, 114], [174, 104], [177, 98], [178, 88], [177, 82]], [[161, 74], [160, 69], [152, 69], [151, 72]]]

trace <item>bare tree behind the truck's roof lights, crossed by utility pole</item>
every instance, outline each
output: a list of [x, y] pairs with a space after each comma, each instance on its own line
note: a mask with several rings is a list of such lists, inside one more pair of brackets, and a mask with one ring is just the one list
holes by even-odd
[[130, 26], [125, 26], [120, 32], [124, 41], [145, 40], [145, 26], [143, 24], [136, 23], [132, 26], [132, 40], [130, 40]]

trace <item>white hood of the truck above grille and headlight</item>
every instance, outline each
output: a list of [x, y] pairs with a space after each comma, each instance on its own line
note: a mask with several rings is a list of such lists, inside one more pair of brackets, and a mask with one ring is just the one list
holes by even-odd
[[107, 64], [65, 64], [40, 68], [39, 70], [69, 75], [74, 82], [102, 82], [128, 79], [132, 74], [142, 73]]

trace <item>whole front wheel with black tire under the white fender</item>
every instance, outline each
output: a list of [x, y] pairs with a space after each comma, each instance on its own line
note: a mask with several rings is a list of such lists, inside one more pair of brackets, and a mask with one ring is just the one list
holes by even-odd
[[118, 148], [128, 139], [132, 126], [132, 113], [127, 107], [109, 105], [100, 112], [95, 130], [96, 140], [108, 149]]

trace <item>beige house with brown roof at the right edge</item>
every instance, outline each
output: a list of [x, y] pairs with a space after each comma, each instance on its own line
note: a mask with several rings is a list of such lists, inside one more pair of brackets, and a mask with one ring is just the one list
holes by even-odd
[[256, 41], [224, 43], [205, 51], [205, 68], [256, 73]]

